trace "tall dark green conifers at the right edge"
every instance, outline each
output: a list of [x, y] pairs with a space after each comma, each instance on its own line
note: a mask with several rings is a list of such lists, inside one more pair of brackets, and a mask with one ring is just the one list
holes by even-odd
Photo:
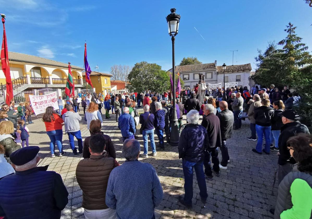
[[287, 36], [275, 49], [269, 45], [264, 54], [256, 57], [258, 69], [252, 77], [258, 84], [289, 85], [298, 92], [302, 99], [297, 110], [304, 117], [302, 121], [308, 125], [312, 123], [312, 56], [307, 51], [308, 46], [302, 43], [302, 38], [295, 33], [296, 27], [289, 23], [285, 32]]

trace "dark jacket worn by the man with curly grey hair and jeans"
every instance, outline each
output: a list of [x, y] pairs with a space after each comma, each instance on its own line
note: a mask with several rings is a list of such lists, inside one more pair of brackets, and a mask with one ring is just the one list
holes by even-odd
[[190, 162], [200, 162], [204, 159], [204, 150], [208, 144], [207, 130], [203, 126], [187, 124], [179, 139], [179, 158]]

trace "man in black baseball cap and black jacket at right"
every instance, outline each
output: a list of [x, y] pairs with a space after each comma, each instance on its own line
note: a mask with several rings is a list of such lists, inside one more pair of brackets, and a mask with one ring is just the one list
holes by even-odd
[[290, 156], [290, 152], [287, 148], [287, 141], [290, 137], [293, 137], [299, 133], [310, 134], [309, 129], [299, 122], [300, 116], [292, 109], [285, 110], [282, 113], [282, 122], [284, 126], [281, 128], [280, 137], [278, 138], [278, 164], [277, 164], [277, 183], [278, 185], [283, 178], [291, 172], [292, 164], [295, 164], [295, 160]]

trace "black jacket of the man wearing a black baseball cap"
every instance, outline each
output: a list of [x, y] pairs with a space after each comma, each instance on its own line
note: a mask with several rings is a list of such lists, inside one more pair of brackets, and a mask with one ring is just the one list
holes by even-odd
[[280, 137], [278, 138], [278, 149], [280, 149], [278, 164], [284, 165], [287, 162], [292, 164], [296, 163], [295, 160], [290, 157], [290, 152], [287, 149], [287, 141], [290, 137], [299, 133], [310, 134], [308, 127], [301, 124], [299, 121], [286, 123], [280, 129]]

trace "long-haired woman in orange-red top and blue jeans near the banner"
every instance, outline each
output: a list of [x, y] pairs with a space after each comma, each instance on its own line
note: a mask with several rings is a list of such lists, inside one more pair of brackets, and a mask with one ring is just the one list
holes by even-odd
[[49, 136], [51, 157], [55, 157], [55, 143], [60, 151], [60, 157], [65, 153], [63, 151], [63, 130], [62, 126], [64, 123], [63, 119], [57, 114], [52, 106], [46, 108], [46, 112], [43, 114], [42, 121], [46, 125], [46, 134]]

